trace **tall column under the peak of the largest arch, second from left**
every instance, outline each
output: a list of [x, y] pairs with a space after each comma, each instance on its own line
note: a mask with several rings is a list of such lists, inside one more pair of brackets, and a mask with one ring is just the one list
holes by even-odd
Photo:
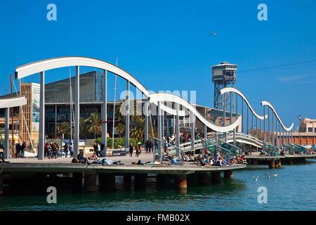
[[74, 158], [79, 154], [79, 118], [80, 118], [80, 79], [79, 66], [76, 66], [74, 79]]

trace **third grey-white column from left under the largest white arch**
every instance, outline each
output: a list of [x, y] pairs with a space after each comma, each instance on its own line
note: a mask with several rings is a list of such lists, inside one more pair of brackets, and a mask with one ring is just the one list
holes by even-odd
[[102, 143], [107, 156], [107, 70], [103, 70], [103, 110], [102, 110]]

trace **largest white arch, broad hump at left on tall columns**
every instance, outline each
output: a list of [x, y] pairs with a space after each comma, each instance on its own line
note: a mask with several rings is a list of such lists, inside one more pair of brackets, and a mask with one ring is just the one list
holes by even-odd
[[118, 68], [117, 66], [107, 63], [103, 60], [81, 56], [49, 58], [46, 60], [40, 60], [34, 63], [21, 65], [15, 70], [15, 79], [21, 79], [23, 77], [34, 75], [36, 73], [47, 70], [65, 68], [70, 66], [88, 66], [92, 68], [107, 70], [131, 82], [131, 84], [135, 85], [136, 88], [138, 88], [140, 91], [143, 92], [143, 94], [145, 94], [145, 96], [149, 96], [150, 94], [149, 91], [145, 89], [145, 86], [143, 86], [143, 84], [140, 84], [140, 82], [138, 82], [135, 77], [130, 75], [125, 70], [122, 70], [121, 68]]

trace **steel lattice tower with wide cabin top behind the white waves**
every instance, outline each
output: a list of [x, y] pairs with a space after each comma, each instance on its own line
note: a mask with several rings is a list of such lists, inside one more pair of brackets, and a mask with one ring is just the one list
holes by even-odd
[[[227, 86], [234, 86], [237, 78], [238, 65], [223, 62], [212, 66], [212, 82], [214, 83], [214, 108], [223, 110], [223, 96], [220, 95], [220, 90]], [[225, 110], [230, 107], [228, 98], [225, 96]], [[234, 101], [232, 101], [234, 103]]]

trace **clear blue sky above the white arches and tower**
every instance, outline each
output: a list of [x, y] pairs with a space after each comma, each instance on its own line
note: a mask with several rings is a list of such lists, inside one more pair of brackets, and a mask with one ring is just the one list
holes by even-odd
[[[57, 21], [46, 20], [50, 3]], [[268, 21], [257, 20], [261, 3]], [[316, 117], [315, 22], [316, 1], [308, 0], [0, 1], [0, 94], [18, 65], [118, 57], [147, 89], [197, 91], [197, 103], [213, 106], [211, 65], [228, 61], [239, 65], [236, 87], [254, 108], [261, 112], [260, 102], [270, 101], [289, 124], [298, 114]], [[291, 66], [271, 68], [284, 64]], [[51, 73], [46, 82], [68, 76]], [[23, 81], [37, 82], [38, 75]]]

